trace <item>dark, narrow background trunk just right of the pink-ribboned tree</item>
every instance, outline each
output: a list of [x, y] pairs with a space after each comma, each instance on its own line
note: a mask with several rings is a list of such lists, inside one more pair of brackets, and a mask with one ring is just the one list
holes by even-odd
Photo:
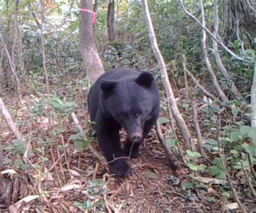
[[114, 0], [110, 0], [107, 8], [107, 34], [109, 35], [110, 41], [116, 40], [116, 28], [114, 24]]

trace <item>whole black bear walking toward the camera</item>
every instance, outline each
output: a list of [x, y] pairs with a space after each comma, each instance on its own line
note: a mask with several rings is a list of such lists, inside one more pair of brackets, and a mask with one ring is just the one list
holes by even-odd
[[[92, 85], [87, 101], [99, 146], [111, 161], [111, 172], [120, 177], [131, 174], [127, 159], [113, 159], [138, 158], [141, 141], [156, 123], [160, 104], [153, 75], [131, 68], [109, 70]], [[119, 136], [122, 127], [127, 132], [124, 148]]]

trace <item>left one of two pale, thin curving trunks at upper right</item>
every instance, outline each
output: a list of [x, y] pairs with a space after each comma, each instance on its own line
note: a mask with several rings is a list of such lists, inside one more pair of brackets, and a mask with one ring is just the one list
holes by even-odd
[[[205, 27], [205, 12], [204, 12], [203, 0], [200, 0], [200, 8], [201, 8], [201, 16], [202, 16], [202, 25]], [[206, 66], [208, 68], [209, 73], [211, 74], [213, 85], [217, 89], [221, 100], [223, 100], [224, 102], [227, 102], [228, 98], [226, 97], [226, 95], [224, 94], [223, 90], [221, 89], [221, 87], [219, 85], [219, 82], [217, 80], [217, 77], [215, 76], [215, 73], [211, 66], [211, 62], [208, 57], [208, 51], [207, 51], [207, 46], [206, 46], [206, 32], [204, 29], [202, 29], [202, 33], [203, 33], [202, 45], [203, 45], [203, 53], [204, 53]]]

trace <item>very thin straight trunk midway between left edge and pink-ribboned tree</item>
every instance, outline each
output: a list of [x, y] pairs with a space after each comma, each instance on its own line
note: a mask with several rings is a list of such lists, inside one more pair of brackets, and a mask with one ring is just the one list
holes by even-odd
[[42, 12], [42, 19], [41, 19], [41, 47], [42, 47], [42, 53], [43, 53], [43, 68], [44, 68], [44, 75], [45, 75], [45, 84], [46, 84], [46, 93], [50, 94], [49, 89], [49, 79], [48, 79], [48, 70], [46, 65], [46, 56], [45, 56], [45, 50], [44, 50], [44, 0], [41, 0], [41, 12]]

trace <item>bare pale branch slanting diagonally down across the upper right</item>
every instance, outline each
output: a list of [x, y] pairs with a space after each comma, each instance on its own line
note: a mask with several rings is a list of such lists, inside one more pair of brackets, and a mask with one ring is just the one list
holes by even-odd
[[[205, 27], [205, 25], [201, 24], [201, 23], [199, 22], [199, 20], [198, 20], [195, 16], [193, 16], [190, 12], [188, 12], [187, 9], [186, 9], [185, 6], [184, 6], [182, 0], [179, 0], [179, 2], [180, 2], [181, 7], [183, 8], [183, 10], [185, 11], [185, 13], [186, 13], [188, 16], [190, 16], [192, 19], [194, 19], [194, 21], [195, 21], [196, 23], [198, 23], [198, 24], [204, 29], [204, 31], [206, 31], [215, 41], [217, 41], [217, 42], [219, 43], [219, 45], [225, 49], [226, 52], [228, 52], [230, 55], [232, 55], [232, 56], [233, 56], [235, 59], [237, 59], [237, 60], [240, 60], [240, 61], [244, 61], [244, 60], [245, 60], [244, 58], [241, 58], [240, 56], [237, 56], [237, 55], [236, 55], [235, 53], [233, 53], [230, 49], [228, 49], [228, 48], [223, 44], [223, 42], [221, 42], [220, 40], [218, 40], [218, 39], [212, 34], [212, 32], [211, 32], [210, 30], [208, 30], [207, 27]], [[202, 16], [203, 16], [203, 15], [202, 15]]]

